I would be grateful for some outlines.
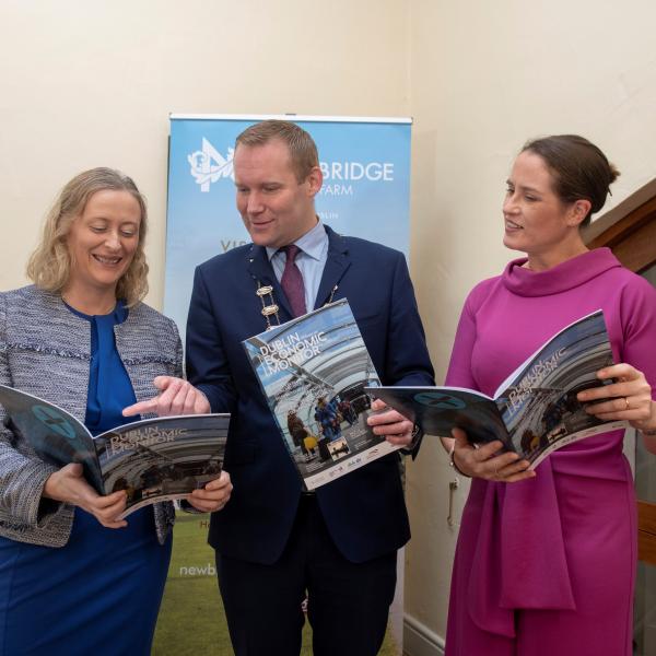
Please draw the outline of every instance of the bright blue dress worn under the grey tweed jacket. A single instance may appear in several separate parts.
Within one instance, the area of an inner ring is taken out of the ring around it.
[[[92,331],[86,427],[95,435],[133,421],[121,415],[136,398],[114,340],[128,311],[120,303],[104,316],[70,309]],[[127,528],[105,528],[75,508],[62,548],[0,537],[0,656],[150,654],[171,536],[159,543],[152,506],[127,522]]]

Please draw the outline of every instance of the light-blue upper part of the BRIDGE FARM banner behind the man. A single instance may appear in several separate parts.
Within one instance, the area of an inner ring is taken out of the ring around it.
[[[338,233],[408,255],[409,118],[171,116],[164,313],[184,332],[194,270],[250,242],[235,207],[236,137],[267,118],[293,120],[318,151],[317,214]]]

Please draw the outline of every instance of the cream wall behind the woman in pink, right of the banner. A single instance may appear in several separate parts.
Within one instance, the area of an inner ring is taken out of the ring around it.
[[[648,0],[410,1],[412,273],[438,380],[468,290],[515,255],[501,243],[501,202],[527,138],[597,142],[622,172],[613,203],[656,177],[654,24]],[[406,612],[443,636],[453,471],[424,446],[408,478]]]

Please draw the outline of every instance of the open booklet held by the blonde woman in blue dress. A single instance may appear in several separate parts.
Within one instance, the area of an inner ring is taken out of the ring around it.
[[[0,385],[10,427],[46,462],[80,462],[98,494],[127,493],[122,517],[150,503],[181,499],[221,473],[230,414],[157,417],[93,437],[61,408]]]

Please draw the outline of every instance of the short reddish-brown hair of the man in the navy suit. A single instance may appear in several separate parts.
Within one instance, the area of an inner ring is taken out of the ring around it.
[[[246,128],[236,139],[237,145],[265,145],[280,139],[290,151],[290,160],[296,179],[302,183],[309,172],[319,165],[317,144],[303,128],[289,120],[269,119]]]

